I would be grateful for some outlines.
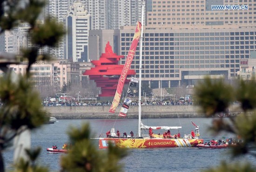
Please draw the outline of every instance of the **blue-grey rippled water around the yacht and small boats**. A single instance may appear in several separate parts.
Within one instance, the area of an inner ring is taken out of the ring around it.
[[[205,141],[219,139],[222,136],[231,137],[229,134],[220,134],[213,137],[207,128],[212,119],[206,118],[182,118],[182,119],[148,119],[143,124],[148,126],[182,126],[179,130],[181,135],[189,134],[195,127],[193,121],[199,125],[200,134]],[[130,133],[132,130],[137,132],[136,119],[118,119],[118,120],[59,120],[55,124],[47,124],[32,133],[32,146],[41,147],[39,163],[48,166],[50,171],[60,170],[59,159],[63,154],[47,153],[46,148],[56,145],[62,145],[68,141],[67,130],[69,126],[80,127],[82,123],[89,122],[94,135],[104,134],[115,125],[115,130]],[[155,131],[155,133],[163,131]],[[171,130],[171,134],[177,133],[177,130]],[[98,140],[94,140],[95,146]],[[103,150],[104,151],[104,150]],[[129,155],[121,160],[125,172],[196,172],[201,169],[217,166],[221,160],[230,159],[229,149],[204,150],[196,147],[176,147],[176,148],[147,148],[147,149],[129,149]],[[13,162],[13,152],[4,153],[6,168]],[[251,156],[243,157],[245,160],[254,162]],[[241,160],[241,158],[240,158]],[[229,160],[230,161],[230,160]]]

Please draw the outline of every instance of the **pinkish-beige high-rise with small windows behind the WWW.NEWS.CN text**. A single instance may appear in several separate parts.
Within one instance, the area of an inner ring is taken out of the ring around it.
[[[224,8],[219,10],[217,8]],[[229,9],[228,9],[229,8]],[[146,0],[146,25],[256,24],[255,0]]]

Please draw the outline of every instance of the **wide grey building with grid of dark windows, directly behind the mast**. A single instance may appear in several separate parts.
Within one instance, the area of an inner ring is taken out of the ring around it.
[[[142,78],[151,88],[194,85],[204,76],[234,79],[240,60],[256,51],[255,26],[216,28],[146,28]],[[120,54],[127,55],[133,31],[120,30]],[[139,51],[132,69],[138,77]],[[124,61],[121,62],[124,64]]]

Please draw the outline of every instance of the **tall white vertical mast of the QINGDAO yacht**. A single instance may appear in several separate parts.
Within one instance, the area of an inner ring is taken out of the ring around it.
[[[142,68],[142,39],[143,39],[143,25],[144,25],[144,10],[145,6],[142,5],[141,9],[141,39],[140,39],[140,69],[139,69],[139,120],[138,120],[138,136],[141,137],[141,68]]]

